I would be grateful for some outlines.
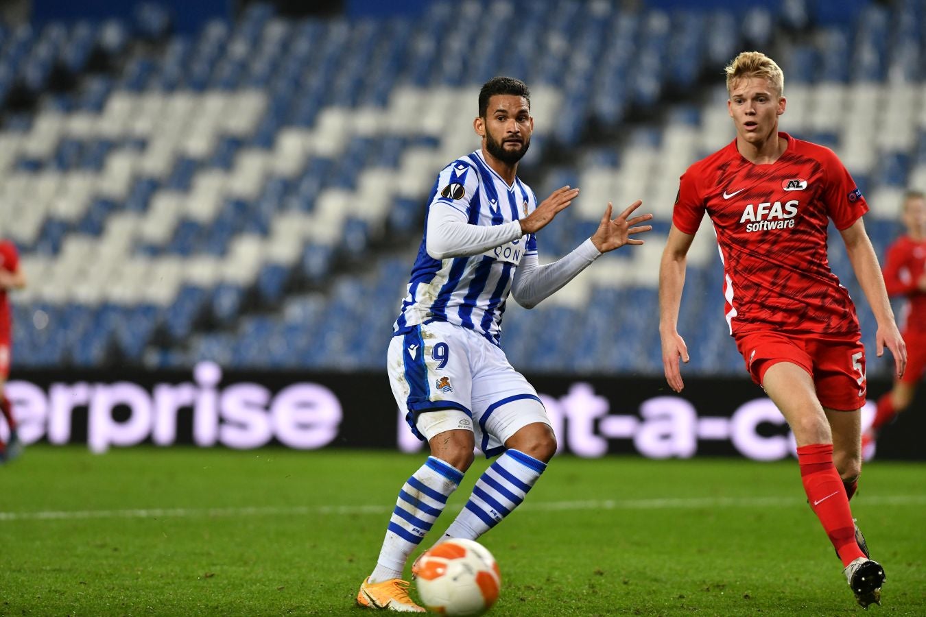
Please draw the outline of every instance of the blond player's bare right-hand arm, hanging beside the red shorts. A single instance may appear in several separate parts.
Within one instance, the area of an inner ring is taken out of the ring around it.
[[[865,293],[871,312],[878,322],[878,331],[875,333],[875,351],[880,358],[884,354],[885,347],[891,350],[894,355],[895,374],[900,378],[907,369],[907,344],[897,329],[894,311],[891,309],[891,302],[888,300],[887,290],[884,287],[881,266],[878,265],[878,257],[865,232],[865,224],[859,218],[840,233],[843,235],[845,252],[849,256],[852,269],[855,270],[858,284]]]

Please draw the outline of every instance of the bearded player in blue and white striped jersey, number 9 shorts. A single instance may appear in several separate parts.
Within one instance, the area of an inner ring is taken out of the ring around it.
[[[408,295],[387,352],[395,400],[431,456],[399,491],[382,550],[357,603],[423,612],[402,580],[409,555],[432,528],[473,462],[478,445],[498,455],[477,480],[444,537],[476,539],[524,500],[557,450],[536,390],[499,347],[508,294],[532,308],[602,253],[624,244],[651,215],[631,216],[634,202],[611,219],[611,204],[591,238],[551,264],[539,265],[535,233],[579,195],[569,186],[543,202],[517,176],[531,143],[527,86],[498,77],[479,94],[473,128],[481,147],[438,175]],[[551,327],[556,327],[551,325]]]

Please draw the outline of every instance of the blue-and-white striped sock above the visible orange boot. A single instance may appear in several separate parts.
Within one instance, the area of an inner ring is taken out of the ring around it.
[[[370,583],[402,578],[408,556],[431,530],[462,479],[463,472],[433,456],[408,478],[399,491]]]

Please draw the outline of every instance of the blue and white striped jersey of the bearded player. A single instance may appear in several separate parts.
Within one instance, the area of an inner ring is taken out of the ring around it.
[[[457,159],[437,177],[434,204],[449,204],[464,213],[470,225],[504,225],[528,216],[537,207],[533,191],[519,179],[508,186],[477,150]],[[427,229],[427,224],[425,224]],[[484,253],[434,259],[426,250],[427,230],[412,267],[402,313],[394,334],[431,321],[468,327],[499,344],[502,314],[521,257],[537,253],[533,234]]]

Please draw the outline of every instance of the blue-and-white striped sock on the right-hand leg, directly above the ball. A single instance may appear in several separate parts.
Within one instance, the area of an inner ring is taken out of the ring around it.
[[[519,450],[506,450],[476,481],[469,501],[444,537],[482,536],[518,507],[544,469],[546,463]]]

